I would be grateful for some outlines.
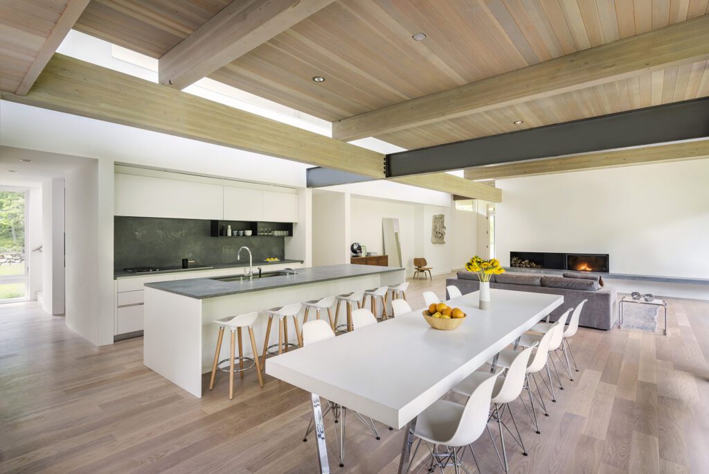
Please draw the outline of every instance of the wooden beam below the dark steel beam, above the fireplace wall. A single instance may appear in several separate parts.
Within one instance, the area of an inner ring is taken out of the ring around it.
[[[503,180],[505,178],[647,165],[659,162],[698,160],[701,158],[709,158],[709,140],[584,153],[560,158],[508,163],[506,165],[470,167],[464,170],[464,176],[467,180]]]

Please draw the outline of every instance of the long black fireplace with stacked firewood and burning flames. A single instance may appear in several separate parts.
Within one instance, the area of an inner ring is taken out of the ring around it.
[[[609,272],[607,253],[510,252],[510,267]]]

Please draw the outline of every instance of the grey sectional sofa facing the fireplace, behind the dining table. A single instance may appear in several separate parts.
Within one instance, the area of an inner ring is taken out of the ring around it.
[[[478,275],[471,272],[458,272],[456,278],[447,278],[446,286],[448,285],[457,287],[462,294],[480,289]],[[603,286],[603,280],[598,275],[564,273],[563,276],[556,276],[507,272],[493,275],[490,287],[520,292],[561,294],[564,297],[564,304],[554,309],[550,321],[556,321],[566,309],[576,307],[584,299],[588,299],[588,302],[581,312],[579,319],[581,326],[608,331],[617,321],[615,289]]]

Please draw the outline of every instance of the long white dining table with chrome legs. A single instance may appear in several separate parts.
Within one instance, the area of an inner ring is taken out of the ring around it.
[[[408,471],[416,417],[499,351],[564,303],[557,294],[491,290],[447,301],[467,317],[454,331],[437,331],[423,309],[289,351],[266,362],[266,373],[311,392],[320,472],[329,473],[320,397],[401,429],[399,472]]]

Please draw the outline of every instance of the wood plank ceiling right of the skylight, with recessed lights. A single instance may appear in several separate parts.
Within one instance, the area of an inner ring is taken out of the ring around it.
[[[340,0],[210,77],[336,121],[703,16],[708,3]],[[226,4],[92,0],[76,28],[160,57]],[[419,32],[427,37],[414,41]],[[707,95],[702,61],[377,138],[423,148]]]

